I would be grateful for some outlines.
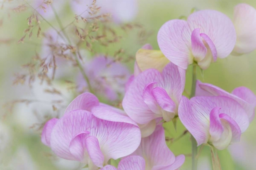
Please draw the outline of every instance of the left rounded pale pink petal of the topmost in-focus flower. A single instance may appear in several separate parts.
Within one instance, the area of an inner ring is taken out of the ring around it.
[[[162,53],[175,65],[187,69],[193,63],[189,56],[189,27],[186,21],[173,19],[159,29],[157,42]]]

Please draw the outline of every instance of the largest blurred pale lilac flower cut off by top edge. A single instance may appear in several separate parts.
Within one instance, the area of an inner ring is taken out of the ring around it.
[[[90,17],[86,11],[88,6],[93,3],[93,0],[72,0],[71,8],[76,15],[81,15],[84,18]],[[101,7],[96,15],[112,14],[114,22],[129,22],[132,21],[138,12],[137,0],[97,0],[97,7]]]

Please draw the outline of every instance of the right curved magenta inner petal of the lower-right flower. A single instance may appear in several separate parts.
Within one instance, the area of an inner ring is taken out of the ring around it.
[[[241,136],[241,129],[239,128],[237,122],[234,121],[234,119],[232,119],[230,116],[223,113],[219,115],[219,118],[222,118],[228,121],[232,131],[231,142],[239,142],[240,136]]]

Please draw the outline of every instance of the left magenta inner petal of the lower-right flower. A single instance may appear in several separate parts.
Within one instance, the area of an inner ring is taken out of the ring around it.
[[[221,124],[221,120],[219,118],[219,110],[221,108],[215,107],[212,109],[210,113],[210,135],[211,140],[217,141],[221,138],[223,133],[223,126]]]

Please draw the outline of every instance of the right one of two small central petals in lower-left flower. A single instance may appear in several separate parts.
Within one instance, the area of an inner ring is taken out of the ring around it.
[[[102,168],[104,163],[104,155],[101,152],[99,141],[95,136],[89,136],[85,139],[85,146],[91,161]]]

